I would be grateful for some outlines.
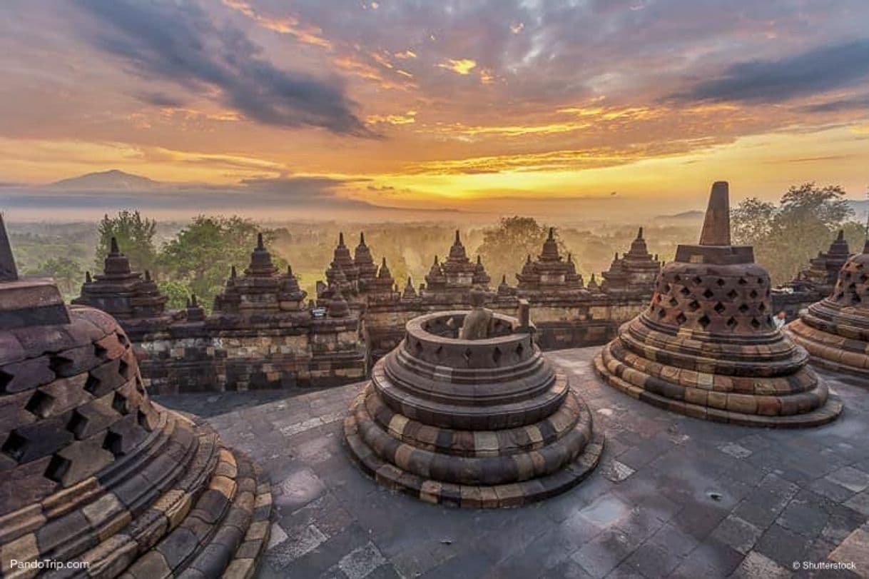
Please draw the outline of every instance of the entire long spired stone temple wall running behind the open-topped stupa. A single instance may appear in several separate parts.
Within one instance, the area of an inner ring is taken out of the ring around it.
[[[426,283],[415,289],[408,279],[400,291],[386,261],[375,264],[364,236],[355,255],[341,236],[327,283],[319,284],[315,303],[306,303],[292,270],[278,272],[260,239],[247,269],[232,269],[214,312],[205,316],[196,296],[186,309],[167,311],[149,272],[131,270],[113,243],[103,273],[88,274],[74,303],[116,317],[154,393],[323,387],[363,379],[401,342],[409,320],[469,309],[475,291],[488,292],[488,306],[507,316],[517,316],[527,300],[542,349],[607,343],[644,307],[659,269],[640,230],[630,251],[615,256],[603,284],[592,276],[586,285],[550,232],[541,255],[528,256],[517,274],[518,285],[505,278],[494,289],[481,259],[468,258],[456,232]]]

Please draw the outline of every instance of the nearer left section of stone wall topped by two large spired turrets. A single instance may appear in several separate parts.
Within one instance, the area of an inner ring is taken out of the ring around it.
[[[279,273],[262,239],[242,276],[232,270],[215,311],[194,296],[166,312],[156,283],[131,271],[113,244],[103,274],[87,276],[75,303],[117,316],[155,394],[324,387],[362,380],[368,356],[361,320],[342,296],[308,307],[292,271]]]

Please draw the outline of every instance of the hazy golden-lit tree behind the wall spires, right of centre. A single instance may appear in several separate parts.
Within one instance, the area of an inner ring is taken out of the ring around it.
[[[548,229],[533,217],[501,217],[501,223],[494,229],[483,231],[483,242],[477,252],[486,266],[493,283],[507,275],[511,281],[514,274],[522,270],[527,256],[534,258],[541,252],[546,241]],[[559,250],[564,253],[564,245],[557,236]],[[473,259],[473,256],[472,256]]]

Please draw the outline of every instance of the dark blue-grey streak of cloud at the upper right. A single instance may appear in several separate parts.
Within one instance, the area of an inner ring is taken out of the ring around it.
[[[683,101],[780,103],[869,78],[869,38],[807,50],[779,60],[728,67],[721,77],[675,95]]]

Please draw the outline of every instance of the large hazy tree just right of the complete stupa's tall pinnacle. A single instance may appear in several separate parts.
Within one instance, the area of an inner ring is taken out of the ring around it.
[[[778,206],[755,198],[740,203],[731,212],[733,242],[753,245],[773,284],[786,283],[829,247],[837,230],[853,229],[853,215],[839,185],[803,183],[788,189]]]

